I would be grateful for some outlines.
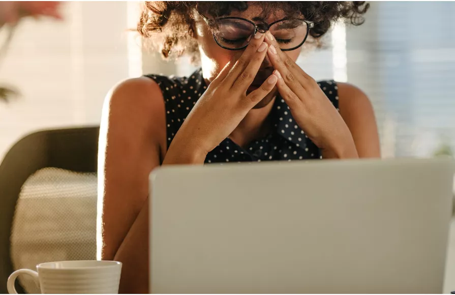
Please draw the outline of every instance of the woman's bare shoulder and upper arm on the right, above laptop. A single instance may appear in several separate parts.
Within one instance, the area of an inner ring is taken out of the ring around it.
[[[337,85],[340,114],[351,131],[359,157],[380,157],[378,128],[370,99],[357,86]]]

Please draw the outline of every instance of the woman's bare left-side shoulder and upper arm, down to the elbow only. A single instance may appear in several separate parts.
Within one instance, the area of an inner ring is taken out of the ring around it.
[[[103,106],[98,152],[104,259],[114,259],[141,211],[163,142],[165,110],[157,83],[140,77],[113,86]]]

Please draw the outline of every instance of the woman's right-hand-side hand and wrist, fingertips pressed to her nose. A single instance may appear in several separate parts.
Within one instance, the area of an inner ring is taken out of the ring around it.
[[[278,78],[278,91],[300,129],[328,154],[356,158],[348,126],[318,83],[280,50],[270,32],[266,33],[265,41],[269,44],[268,58]]]

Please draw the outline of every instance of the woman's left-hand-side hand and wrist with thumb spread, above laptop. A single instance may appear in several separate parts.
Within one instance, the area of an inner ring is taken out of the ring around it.
[[[210,83],[175,135],[165,163],[203,163],[207,153],[275,87],[278,78],[270,75],[247,95],[267,54],[267,43],[263,41],[264,35],[256,34],[238,61],[228,63]]]

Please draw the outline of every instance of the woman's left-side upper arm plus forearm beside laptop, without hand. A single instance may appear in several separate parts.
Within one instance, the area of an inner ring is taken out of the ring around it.
[[[99,141],[98,226],[101,258],[123,262],[120,292],[148,293],[148,278],[141,277],[148,275],[148,175],[160,165],[165,130],[164,101],[153,80],[131,79],[108,94]]]

